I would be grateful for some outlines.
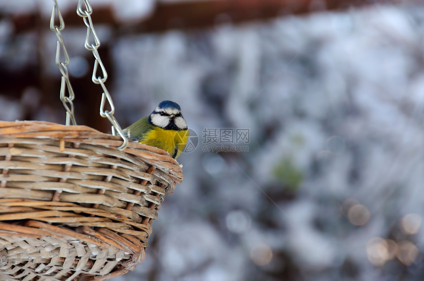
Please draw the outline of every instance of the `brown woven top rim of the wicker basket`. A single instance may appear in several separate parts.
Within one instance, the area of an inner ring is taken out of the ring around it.
[[[122,144],[119,136],[100,132],[86,125],[62,125],[45,121],[0,121],[0,137],[51,139],[57,142],[75,142],[106,147],[119,152]],[[59,145],[59,144],[58,144]],[[164,170],[176,184],[182,181],[182,165],[168,152],[130,141],[122,151],[143,160],[145,163]]]

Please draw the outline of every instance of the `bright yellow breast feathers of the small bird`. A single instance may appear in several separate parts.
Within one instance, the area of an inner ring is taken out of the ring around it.
[[[188,134],[188,130],[176,131],[155,127],[145,134],[140,143],[163,149],[173,158],[177,158],[187,144]]]

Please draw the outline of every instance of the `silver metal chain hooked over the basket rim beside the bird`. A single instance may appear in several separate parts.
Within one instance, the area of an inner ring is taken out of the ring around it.
[[[83,9],[83,3],[85,5],[85,9]],[[115,112],[115,106],[113,105],[112,97],[110,96],[105,86],[105,82],[107,80],[107,72],[105,65],[103,65],[102,59],[100,58],[99,52],[97,51],[100,46],[100,39],[97,36],[96,31],[94,30],[93,21],[91,20],[92,12],[93,9],[91,8],[91,5],[88,0],[78,0],[78,7],[76,8],[76,13],[78,14],[78,16],[82,17],[82,19],[84,20],[84,24],[87,27],[87,35],[85,36],[84,47],[87,50],[92,51],[95,59],[91,80],[94,84],[100,84],[103,90],[102,101],[100,103],[100,116],[102,116],[103,118],[107,118],[110,124],[112,124],[113,134],[114,131],[117,131],[118,134],[121,136],[124,142],[121,146],[118,147],[118,149],[124,150],[128,146],[128,140],[124,136],[124,133],[122,132],[122,128],[119,125],[118,121],[116,121],[115,117],[113,117],[113,113]],[[90,37],[93,37],[94,43],[90,43]],[[101,76],[97,76],[97,69],[99,68],[99,65],[102,69],[103,78]],[[110,107],[110,110],[105,110],[106,101]]]

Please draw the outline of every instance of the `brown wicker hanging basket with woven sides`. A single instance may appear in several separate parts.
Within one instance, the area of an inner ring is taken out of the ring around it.
[[[141,263],[181,183],[163,150],[87,126],[0,121],[0,280],[106,280]]]

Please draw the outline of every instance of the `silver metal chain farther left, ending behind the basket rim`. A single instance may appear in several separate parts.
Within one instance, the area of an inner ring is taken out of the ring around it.
[[[62,73],[62,81],[61,81],[61,87],[60,87],[60,100],[63,102],[63,106],[66,109],[66,125],[70,125],[71,121],[72,121],[72,125],[76,125],[75,116],[73,113],[73,103],[72,103],[72,100],[74,99],[75,95],[73,93],[71,81],[69,80],[68,67],[67,67],[67,65],[70,62],[70,59],[69,59],[68,52],[66,51],[65,44],[63,43],[62,33],[61,33],[61,31],[65,29],[65,23],[63,21],[62,14],[60,13],[57,0],[53,0],[53,2],[54,2],[54,6],[52,10],[52,15],[50,18],[50,29],[56,32],[56,36],[58,38],[58,41],[56,44],[56,64],[57,66],[59,66],[59,70]],[[56,11],[59,18],[60,26],[57,26],[54,24]],[[61,47],[65,57],[64,62],[60,61]],[[66,95],[67,88],[69,92],[68,96]]]

